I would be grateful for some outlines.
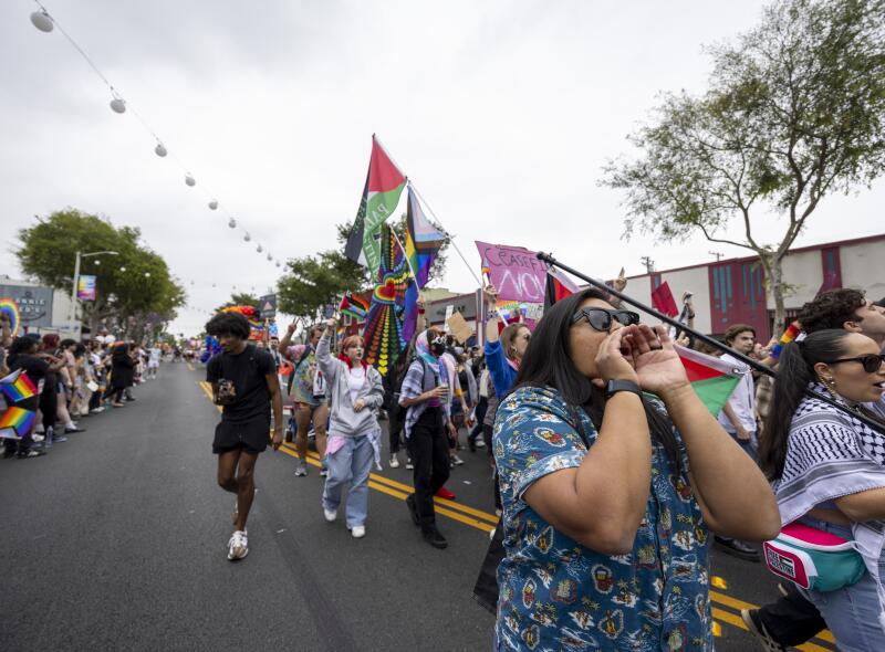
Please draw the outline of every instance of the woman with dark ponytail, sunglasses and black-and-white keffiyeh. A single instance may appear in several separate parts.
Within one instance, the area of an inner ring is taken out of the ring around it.
[[[779,376],[759,463],[773,483],[781,518],[854,540],[867,569],[856,583],[833,591],[800,591],[818,607],[840,650],[881,650],[885,422],[864,403],[885,393],[885,356],[860,333],[818,330],[784,347]],[[846,410],[806,396],[805,388]]]

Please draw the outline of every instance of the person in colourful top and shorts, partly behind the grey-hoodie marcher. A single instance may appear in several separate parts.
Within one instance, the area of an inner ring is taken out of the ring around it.
[[[316,441],[316,452],[322,460],[321,476],[327,474],[325,460],[326,424],[329,422],[329,400],[326,398],[325,378],[316,365],[316,345],[323,334],[322,326],[312,326],[309,330],[308,346],[290,346],[295,333],[295,324],[290,324],[282,340],[280,353],[292,362],[292,410],[295,413],[298,432],[295,433],[295,451],[298,462],[295,475],[308,475],[308,432],[311,423]]]

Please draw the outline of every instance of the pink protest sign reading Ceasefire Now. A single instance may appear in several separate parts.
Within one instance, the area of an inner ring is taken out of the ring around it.
[[[498,298],[524,303],[544,303],[548,264],[535,252],[522,246],[489,244],[477,241],[489,278],[498,290]]]

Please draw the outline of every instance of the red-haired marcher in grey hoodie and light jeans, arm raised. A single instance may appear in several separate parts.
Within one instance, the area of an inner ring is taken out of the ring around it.
[[[329,319],[316,345],[316,361],[326,379],[332,406],[326,443],[329,475],[323,488],[323,515],[329,523],[337,517],[342,486],[350,482],[345,522],[351,535],[366,534],[368,475],[372,462],[381,462],[381,425],[376,416],[384,401],[381,374],[363,361],[363,338],[351,335],[342,354],[332,357],[331,341],[335,319]]]

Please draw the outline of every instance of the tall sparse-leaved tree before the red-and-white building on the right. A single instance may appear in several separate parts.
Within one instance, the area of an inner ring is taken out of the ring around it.
[[[829,194],[870,183],[885,166],[885,3],[780,0],[735,43],[709,49],[706,93],[667,94],[610,162],[603,185],[625,192],[626,235],[695,233],[749,249],[764,267],[783,328],[782,261]],[[762,222],[780,240],[758,235]],[[722,231],[732,221],[742,235]]]

